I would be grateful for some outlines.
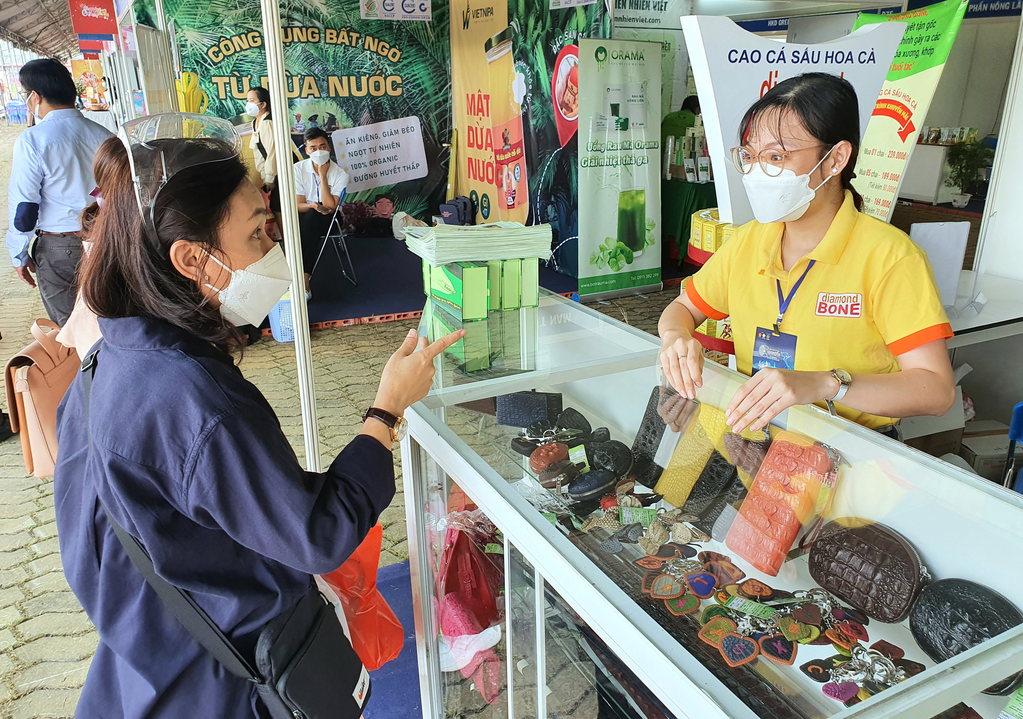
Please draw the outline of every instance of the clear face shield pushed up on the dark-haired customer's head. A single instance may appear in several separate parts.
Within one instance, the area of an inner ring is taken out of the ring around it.
[[[128,149],[138,211],[155,237],[153,208],[160,191],[182,170],[233,160],[241,137],[226,120],[195,113],[149,115],[124,123],[118,137]]]

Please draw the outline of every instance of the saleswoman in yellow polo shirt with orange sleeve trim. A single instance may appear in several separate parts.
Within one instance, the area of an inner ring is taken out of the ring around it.
[[[730,316],[737,365],[752,375],[725,411],[735,432],[832,401],[882,431],[898,417],[944,414],[954,399],[951,327],[923,251],[859,212],[852,85],[821,73],[786,80],[740,128],[732,158],[756,219],[661,315],[671,384],[696,397],[704,358],[694,329]]]

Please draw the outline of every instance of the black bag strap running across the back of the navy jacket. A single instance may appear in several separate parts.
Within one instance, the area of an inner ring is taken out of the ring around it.
[[[89,393],[92,390],[92,377],[96,372],[96,356],[98,354],[99,348],[97,347],[82,362],[82,390],[85,395],[85,424],[89,433],[90,456],[92,455],[92,428],[89,425]],[[98,498],[98,492],[96,496]],[[135,569],[145,578],[145,581],[149,583],[152,590],[157,592],[167,611],[174,615],[184,628],[188,630],[188,633],[195,638],[195,641],[205,646],[213,655],[214,659],[224,665],[227,671],[242,679],[261,683],[262,679],[260,676],[253,671],[252,666],[246,661],[244,657],[224,636],[224,633],[220,631],[220,628],[214,621],[210,619],[210,615],[204,612],[186,591],[174,586],[157,574],[152,566],[152,559],[149,558],[149,554],[145,551],[142,543],[128,534],[121,525],[114,521],[102,498],[99,498],[99,503],[102,505],[103,511],[106,512],[106,521],[114,528],[114,533],[118,536],[121,546],[128,553],[128,558],[135,565]]]

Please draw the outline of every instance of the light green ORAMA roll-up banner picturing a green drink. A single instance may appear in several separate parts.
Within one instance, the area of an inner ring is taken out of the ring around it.
[[[661,45],[579,41],[579,295],[661,289]]]

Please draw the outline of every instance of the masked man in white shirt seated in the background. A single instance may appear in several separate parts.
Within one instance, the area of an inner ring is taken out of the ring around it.
[[[309,275],[323,246],[323,237],[330,229],[341,194],[348,187],[348,173],[330,160],[330,138],[323,130],[306,130],[303,137],[309,159],[293,167],[295,193],[302,214],[302,263],[308,290]],[[338,221],[342,221],[340,215]]]

